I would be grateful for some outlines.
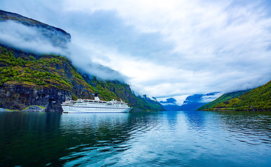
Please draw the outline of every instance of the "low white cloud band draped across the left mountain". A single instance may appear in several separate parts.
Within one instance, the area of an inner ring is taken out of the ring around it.
[[[37,54],[61,54],[71,59],[75,67],[80,68],[87,74],[94,77],[107,80],[124,81],[126,77],[117,71],[104,67],[95,63],[91,59],[91,54],[95,54],[91,49],[85,50],[82,47],[71,42],[64,47],[63,45],[55,45],[52,37],[43,34],[41,30],[33,26],[24,26],[23,24],[6,21],[0,22],[0,42],[15,48],[33,51]],[[57,31],[55,32],[57,35]],[[61,37],[61,35],[59,35]],[[56,37],[57,38],[57,37]]]

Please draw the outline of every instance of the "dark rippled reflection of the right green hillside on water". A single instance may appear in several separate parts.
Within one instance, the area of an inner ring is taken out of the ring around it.
[[[230,117],[229,117],[230,116]],[[219,119],[230,136],[230,141],[240,141],[249,145],[271,143],[271,115],[261,112],[221,113]],[[253,136],[253,137],[251,137]]]

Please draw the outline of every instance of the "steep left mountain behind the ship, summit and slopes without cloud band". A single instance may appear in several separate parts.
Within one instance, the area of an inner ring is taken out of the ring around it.
[[[65,48],[71,40],[71,35],[64,30],[0,10],[0,22],[10,20],[35,27],[38,35],[55,47]],[[122,99],[134,111],[165,110],[156,100],[134,95],[128,84],[96,79],[74,67],[64,56],[37,54],[0,41],[1,110],[62,111],[61,103],[65,100],[91,99],[93,93],[98,93],[101,100]]]

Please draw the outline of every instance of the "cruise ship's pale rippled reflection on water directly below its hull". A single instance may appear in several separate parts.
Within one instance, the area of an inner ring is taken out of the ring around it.
[[[115,152],[129,149],[129,113],[64,114],[61,129],[70,154],[59,160],[65,166],[97,164]]]

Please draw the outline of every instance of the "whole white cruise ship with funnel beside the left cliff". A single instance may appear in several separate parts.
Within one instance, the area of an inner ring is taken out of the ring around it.
[[[125,102],[102,101],[95,93],[94,100],[69,100],[61,104],[63,113],[127,113],[132,107]]]

